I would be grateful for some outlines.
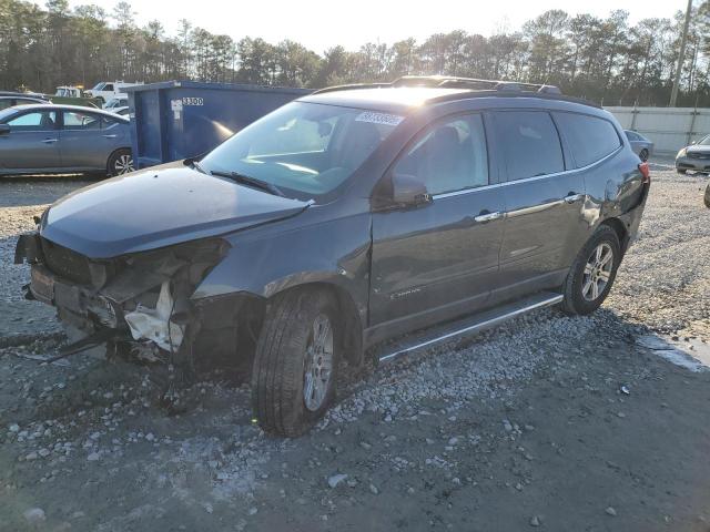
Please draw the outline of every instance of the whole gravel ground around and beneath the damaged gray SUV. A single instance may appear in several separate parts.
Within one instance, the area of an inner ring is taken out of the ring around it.
[[[36,360],[55,325],[14,296],[27,267],[9,260],[53,187],[22,184],[22,206],[0,206],[0,341],[37,339],[0,348],[0,531],[707,532],[710,371],[666,358],[707,356],[710,211],[700,177],[653,170],[602,309],[534,313],[344,381],[297,440],[252,423],[229,368],[169,416],[145,369]]]

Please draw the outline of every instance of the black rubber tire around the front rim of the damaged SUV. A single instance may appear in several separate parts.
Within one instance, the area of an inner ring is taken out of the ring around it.
[[[314,408],[306,406],[306,359],[310,346],[315,344],[316,320],[323,316],[332,329],[332,364],[327,383],[321,387],[325,389],[323,399]],[[342,345],[337,316],[336,304],[325,290],[290,290],[268,304],[252,368],[252,408],[266,432],[301,436],[335,399]]]

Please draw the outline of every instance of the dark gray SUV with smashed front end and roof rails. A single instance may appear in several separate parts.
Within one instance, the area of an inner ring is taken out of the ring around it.
[[[297,436],[334,401],[343,360],[548,305],[597,309],[649,186],[596,104],[404,78],[318,91],[200,160],[75,192],[16,260],[32,264],[28,297],[84,336],[64,354],[253,357],[255,418]]]

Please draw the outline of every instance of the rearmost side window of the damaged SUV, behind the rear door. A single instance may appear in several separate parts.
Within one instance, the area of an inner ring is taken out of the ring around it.
[[[555,120],[578,168],[596,163],[621,145],[616,127],[607,120],[577,113],[555,113]]]

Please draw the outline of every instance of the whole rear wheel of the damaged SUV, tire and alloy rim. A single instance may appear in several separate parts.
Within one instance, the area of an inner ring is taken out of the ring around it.
[[[565,282],[562,310],[586,315],[604,303],[621,263],[621,246],[616,232],[600,226],[579,252]]]

